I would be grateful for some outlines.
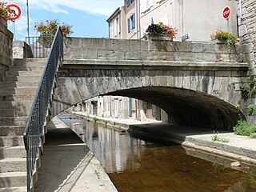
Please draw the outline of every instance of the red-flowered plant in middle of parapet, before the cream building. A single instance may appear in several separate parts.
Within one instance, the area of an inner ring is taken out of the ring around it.
[[[146,29],[146,35],[151,37],[167,37],[170,40],[173,40],[173,38],[176,38],[177,29],[172,26],[166,26],[162,22],[159,22],[158,24],[151,24]]]

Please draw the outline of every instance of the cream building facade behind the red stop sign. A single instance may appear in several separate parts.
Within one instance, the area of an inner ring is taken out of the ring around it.
[[[236,0],[140,0],[141,37],[150,23],[163,22],[178,29],[176,41],[189,34],[190,41],[210,41],[216,30],[237,34]],[[224,19],[224,7],[230,7],[230,18]]]

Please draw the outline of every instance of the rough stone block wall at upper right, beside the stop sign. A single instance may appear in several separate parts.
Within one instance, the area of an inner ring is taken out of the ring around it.
[[[256,74],[256,0],[242,0],[241,2],[242,13],[240,12],[238,1],[239,38],[242,45],[246,45],[247,47],[247,49],[243,50],[246,55],[246,61],[250,63],[251,70],[254,70],[254,74]]]

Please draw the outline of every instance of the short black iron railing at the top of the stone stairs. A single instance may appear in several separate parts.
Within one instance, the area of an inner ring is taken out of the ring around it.
[[[47,58],[50,53],[53,36],[31,36],[26,37],[26,45],[30,48],[26,49],[26,58]]]

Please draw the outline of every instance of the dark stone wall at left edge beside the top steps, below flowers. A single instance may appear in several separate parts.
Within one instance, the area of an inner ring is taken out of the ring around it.
[[[12,46],[14,35],[5,25],[0,23],[0,76],[5,74],[10,66],[12,58]]]

